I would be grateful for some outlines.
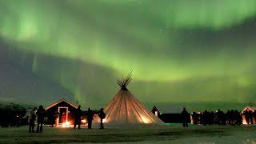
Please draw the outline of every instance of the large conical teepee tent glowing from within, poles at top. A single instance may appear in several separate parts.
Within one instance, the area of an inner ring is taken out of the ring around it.
[[[126,88],[131,81],[131,73],[122,81],[118,80],[121,89],[104,109],[106,118],[105,126],[132,126],[132,125],[165,125],[150,110],[146,109],[137,98]],[[99,122],[98,118],[94,122]]]

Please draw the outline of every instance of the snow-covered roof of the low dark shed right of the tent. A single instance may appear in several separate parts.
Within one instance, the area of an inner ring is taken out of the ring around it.
[[[161,114],[182,113],[183,106],[154,106]]]

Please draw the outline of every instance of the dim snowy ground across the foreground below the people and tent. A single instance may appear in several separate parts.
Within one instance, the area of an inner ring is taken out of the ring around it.
[[[43,127],[42,134],[28,126],[0,128],[0,143],[254,143],[256,126],[166,126],[139,129],[74,130]]]

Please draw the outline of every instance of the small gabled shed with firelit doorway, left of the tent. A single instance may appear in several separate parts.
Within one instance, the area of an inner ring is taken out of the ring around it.
[[[46,107],[48,125],[65,126],[74,124],[74,116],[78,106],[75,106],[66,99],[61,99]]]

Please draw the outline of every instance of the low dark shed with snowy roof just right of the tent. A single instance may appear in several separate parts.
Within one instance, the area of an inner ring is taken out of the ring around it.
[[[153,106],[152,112],[166,123],[182,123],[182,106]]]

